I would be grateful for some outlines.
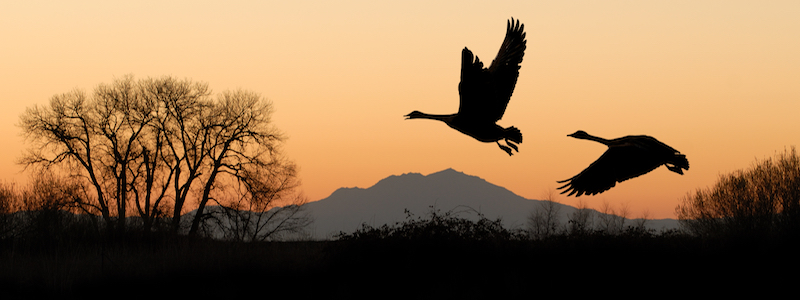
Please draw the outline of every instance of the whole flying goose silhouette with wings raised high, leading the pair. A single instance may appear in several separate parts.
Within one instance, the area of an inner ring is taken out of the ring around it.
[[[506,37],[497,57],[489,68],[464,47],[461,51],[461,82],[458,92],[461,98],[458,113],[432,115],[413,111],[406,119],[431,119],[445,122],[448,126],[475,138],[478,141],[496,142],[500,149],[512,155],[511,148],[519,152],[522,132],[516,127],[503,128],[497,125],[508,106],[514,86],[519,77],[519,64],[525,54],[525,26],[511,18],[506,26]],[[507,146],[500,144],[505,140]]]

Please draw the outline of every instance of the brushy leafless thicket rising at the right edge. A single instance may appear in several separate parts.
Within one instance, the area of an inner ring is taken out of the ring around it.
[[[800,156],[792,147],[687,195],[676,208],[699,236],[763,236],[800,229]]]

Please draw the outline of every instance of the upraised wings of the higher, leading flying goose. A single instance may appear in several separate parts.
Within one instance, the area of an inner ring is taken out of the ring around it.
[[[502,117],[519,77],[525,54],[525,26],[513,18],[506,26],[506,37],[489,68],[467,48],[461,51],[461,96],[459,116],[497,122]]]

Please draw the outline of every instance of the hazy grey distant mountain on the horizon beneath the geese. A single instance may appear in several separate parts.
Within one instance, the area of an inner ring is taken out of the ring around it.
[[[402,222],[406,210],[414,216],[426,217],[431,207],[441,212],[461,212],[458,216],[474,219],[477,211],[492,220],[500,218],[506,228],[524,228],[528,216],[542,202],[525,199],[479,177],[447,169],[427,176],[392,175],[366,189],[340,188],[305,207],[314,219],[309,228],[311,235],[324,239],[340,231],[353,232],[362,223],[377,227]],[[568,216],[577,209],[557,205],[560,223],[566,224]],[[474,211],[470,213],[470,209]],[[657,230],[678,227],[673,219],[648,220],[646,224]]]

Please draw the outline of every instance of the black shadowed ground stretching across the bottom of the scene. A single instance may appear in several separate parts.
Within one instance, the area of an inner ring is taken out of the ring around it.
[[[687,296],[794,284],[784,274],[797,273],[798,254],[792,238],[684,235],[252,244],[160,236],[0,246],[2,299]]]

